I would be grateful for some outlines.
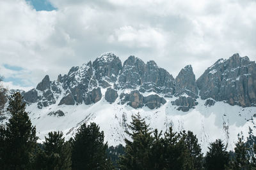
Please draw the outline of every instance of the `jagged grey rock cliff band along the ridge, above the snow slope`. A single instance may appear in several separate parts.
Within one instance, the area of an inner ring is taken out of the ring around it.
[[[256,66],[248,57],[236,53],[215,62],[198,80],[191,65],[182,68],[174,79],[153,60],[145,63],[130,56],[122,65],[115,54],[104,53],[93,62],[72,67],[68,74],[59,75],[58,80],[50,81],[45,76],[36,89],[23,95],[26,103],[37,103],[38,108],[51,104],[93,104],[102,97],[114,103],[118,96],[120,104],[132,108],[159,108],[166,103],[166,97],[177,97],[171,103],[182,111],[195,108],[198,97],[208,99],[205,106],[225,101],[249,107],[256,106]]]

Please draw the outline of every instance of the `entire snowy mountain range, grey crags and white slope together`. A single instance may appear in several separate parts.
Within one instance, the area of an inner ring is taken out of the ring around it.
[[[104,53],[57,80],[45,76],[22,95],[40,140],[49,131],[63,131],[68,139],[79,125],[96,122],[109,145],[118,145],[138,112],[153,129],[172,125],[195,132],[203,152],[217,138],[232,149],[237,134],[245,138],[249,127],[256,131],[256,65],[237,53],[215,62],[198,80],[190,65],[173,78],[153,60],[130,56],[122,64]]]

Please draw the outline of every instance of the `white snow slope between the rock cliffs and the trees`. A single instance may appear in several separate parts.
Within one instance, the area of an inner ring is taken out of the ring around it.
[[[101,89],[102,94],[106,89]],[[216,102],[214,106],[205,106],[205,101],[198,99],[198,105],[188,112],[178,111],[170,102],[175,97],[169,98],[161,108],[150,110],[146,106],[134,109],[131,106],[120,105],[120,99],[109,104],[102,96],[102,99],[90,105],[67,106],[53,104],[42,110],[36,104],[28,106],[29,117],[36,125],[37,135],[40,141],[50,131],[63,131],[65,138],[74,135],[79,125],[84,122],[95,122],[104,131],[105,140],[109,145],[124,144],[125,129],[131,122],[131,115],[140,113],[152,129],[166,131],[170,125],[174,131],[193,131],[202,145],[203,152],[207,151],[207,146],[215,139],[223,139],[228,143],[228,149],[234,148],[237,141],[237,134],[247,136],[248,127],[255,127],[256,107],[241,108],[240,106],[230,106],[227,103]],[[64,117],[48,115],[51,110],[61,110]],[[255,132],[255,128],[253,128]]]

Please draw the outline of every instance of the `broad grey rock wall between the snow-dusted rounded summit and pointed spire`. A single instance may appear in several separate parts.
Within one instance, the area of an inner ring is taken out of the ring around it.
[[[140,87],[140,92],[163,94],[173,94],[175,87],[175,80],[168,71],[159,68],[152,60],[145,64],[134,56],[125,60],[118,83],[121,89]]]

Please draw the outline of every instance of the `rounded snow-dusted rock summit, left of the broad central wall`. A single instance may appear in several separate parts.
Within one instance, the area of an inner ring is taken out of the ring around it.
[[[122,69],[121,60],[113,53],[104,53],[92,64],[95,77],[102,87],[109,87],[109,82],[115,82],[119,71]]]

